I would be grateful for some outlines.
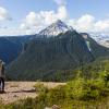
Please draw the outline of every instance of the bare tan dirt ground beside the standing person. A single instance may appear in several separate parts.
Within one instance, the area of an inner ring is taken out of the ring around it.
[[[36,82],[7,82],[5,94],[0,94],[0,101],[10,104],[27,97],[35,98],[37,96],[35,84]],[[58,85],[64,85],[64,83],[44,83],[44,85],[53,88]]]

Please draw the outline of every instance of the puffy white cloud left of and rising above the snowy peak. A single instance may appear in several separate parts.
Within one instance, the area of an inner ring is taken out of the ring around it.
[[[57,20],[65,21],[68,19],[68,12],[64,5],[60,5],[55,11],[40,11],[39,13],[29,12],[26,17],[23,20],[20,28],[22,29],[32,29],[32,28],[41,28],[46,27],[49,24],[56,22]]]

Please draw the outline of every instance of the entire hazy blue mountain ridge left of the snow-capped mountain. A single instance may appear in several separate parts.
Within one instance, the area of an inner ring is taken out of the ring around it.
[[[25,43],[31,40],[32,37],[34,36],[0,37],[0,59],[2,59],[5,64],[11,63],[23,52]]]

